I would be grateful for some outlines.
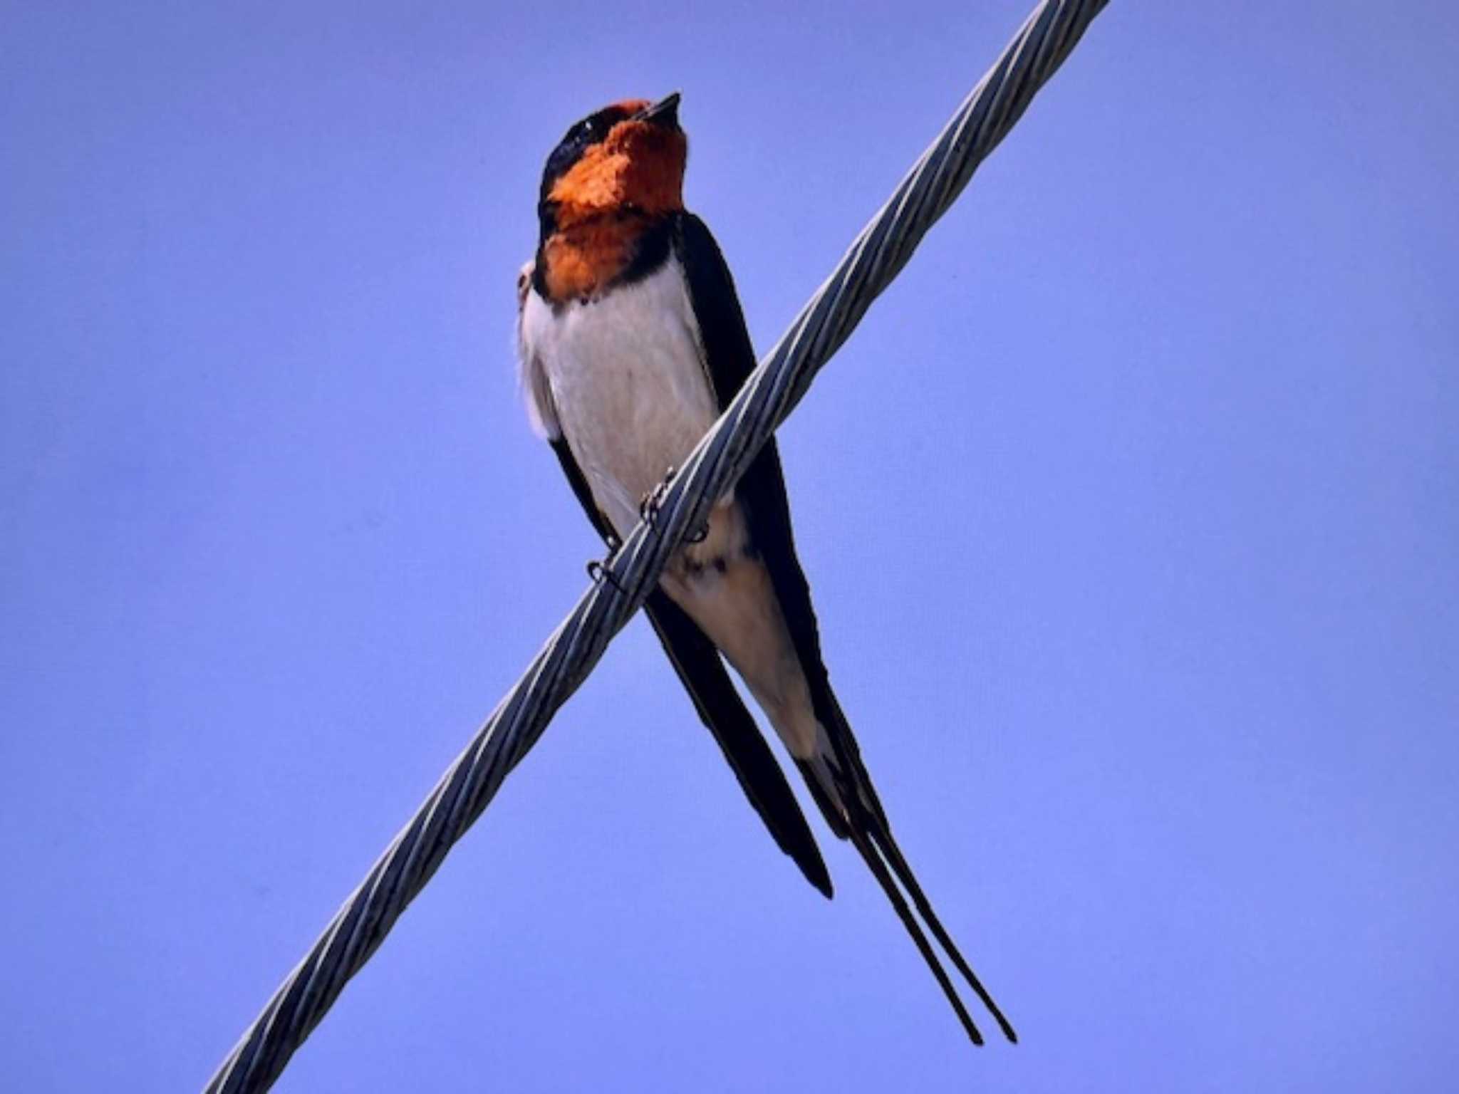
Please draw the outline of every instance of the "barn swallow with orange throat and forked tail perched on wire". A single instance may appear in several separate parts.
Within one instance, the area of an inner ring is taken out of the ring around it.
[[[528,417],[610,547],[754,369],[730,268],[684,209],[687,150],[677,93],[619,102],[576,123],[547,158],[537,254],[518,277]],[[832,691],[773,438],[715,503],[708,527],[671,556],[645,611],[750,804],[805,878],[832,896],[816,839],[725,661],[830,830],[867,862],[967,1036],[982,1043],[928,931],[1017,1040],[891,837]]]

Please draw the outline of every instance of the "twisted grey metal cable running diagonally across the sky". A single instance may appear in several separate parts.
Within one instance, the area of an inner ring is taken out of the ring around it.
[[[887,203],[696,445],[658,506],[578,601],[465,751],[391,840],[365,881],[244,1033],[206,1094],[273,1085],[346,982],[369,960],[446,852],[587,678],[608,640],[643,602],[674,547],[721,497],[795,408],[811,379],[897,276],[1058,70],[1107,0],[1045,0],[959,106]]]

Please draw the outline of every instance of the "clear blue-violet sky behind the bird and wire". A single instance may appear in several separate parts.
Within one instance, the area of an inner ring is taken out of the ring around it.
[[[1026,12],[4,9],[0,1085],[200,1087],[585,588],[512,359],[568,124],[683,89],[766,349]],[[1023,1044],[635,621],[279,1090],[1452,1088],[1456,57],[1116,1],[781,433]]]

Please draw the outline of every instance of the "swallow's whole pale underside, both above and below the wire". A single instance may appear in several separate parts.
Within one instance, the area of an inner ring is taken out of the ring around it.
[[[592,303],[559,312],[537,293],[522,305],[525,382],[537,373],[550,404],[535,406],[544,433],[566,438],[592,499],[619,535],[670,467],[705,435],[719,410],[703,365],[699,328],[678,261]],[[662,586],[750,686],[798,757],[814,754],[816,716],[805,675],[770,575],[747,551],[744,513],[730,493],[706,537],[670,560]]]

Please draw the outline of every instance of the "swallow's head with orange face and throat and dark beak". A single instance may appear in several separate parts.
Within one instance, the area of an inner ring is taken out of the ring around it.
[[[547,158],[537,204],[543,238],[605,213],[654,217],[683,209],[687,156],[678,92],[589,114]]]

